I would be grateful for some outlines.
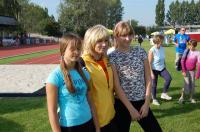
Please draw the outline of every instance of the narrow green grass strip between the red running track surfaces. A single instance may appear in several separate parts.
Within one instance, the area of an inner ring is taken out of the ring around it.
[[[9,64],[15,61],[27,60],[34,57],[50,55],[50,54],[54,54],[58,52],[59,52],[58,49],[54,49],[54,50],[41,51],[41,52],[36,52],[36,53],[31,53],[31,54],[18,55],[14,57],[8,57],[8,58],[0,59],[0,64]]]

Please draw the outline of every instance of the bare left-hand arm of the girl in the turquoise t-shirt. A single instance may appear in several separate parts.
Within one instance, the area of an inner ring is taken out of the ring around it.
[[[58,96],[57,87],[55,85],[47,83],[46,94],[47,94],[47,109],[52,131],[60,132],[61,130],[57,114],[57,96]]]

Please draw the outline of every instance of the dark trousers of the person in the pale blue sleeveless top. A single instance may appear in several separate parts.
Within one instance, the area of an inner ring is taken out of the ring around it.
[[[165,83],[163,86],[163,93],[166,93],[167,90],[169,89],[172,77],[166,68],[164,68],[162,71],[153,70],[153,74],[155,78],[153,79],[153,84],[152,84],[152,96],[155,99],[156,93],[157,93],[158,75],[160,75],[165,80]]]

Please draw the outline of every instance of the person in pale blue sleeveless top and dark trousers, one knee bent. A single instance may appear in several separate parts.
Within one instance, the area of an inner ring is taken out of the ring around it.
[[[162,47],[164,36],[162,35],[155,35],[153,37],[154,46],[151,47],[149,50],[149,63],[151,70],[151,78],[152,78],[152,98],[154,105],[160,105],[159,101],[156,98],[157,93],[157,82],[158,82],[158,75],[160,75],[164,80],[164,86],[163,86],[163,92],[161,94],[161,98],[165,100],[171,100],[172,97],[170,97],[167,94],[167,91],[169,89],[170,83],[171,83],[171,75],[169,74],[168,70],[166,69],[165,64],[165,50]]]

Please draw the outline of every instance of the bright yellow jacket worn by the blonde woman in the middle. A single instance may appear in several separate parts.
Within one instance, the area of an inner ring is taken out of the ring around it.
[[[95,104],[100,127],[110,123],[114,118],[113,72],[108,58],[103,58],[108,72],[108,80],[104,69],[89,55],[84,55],[86,68],[90,73],[90,90]]]

